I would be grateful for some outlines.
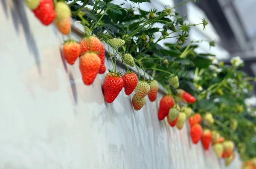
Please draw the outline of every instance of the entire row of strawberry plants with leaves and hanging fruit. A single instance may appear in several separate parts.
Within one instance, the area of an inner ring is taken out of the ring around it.
[[[139,5],[150,3],[150,0],[130,1]],[[246,99],[251,96],[251,81],[255,78],[239,70],[244,65],[239,57],[225,65],[212,54],[195,52],[201,42],[215,46],[214,41],[205,39],[188,42],[192,27],[207,28],[205,18],[201,23],[190,24],[187,16],[176,12],[177,6],[144,11],[140,6],[125,8],[122,1],[115,4],[113,0],[26,0],[26,4],[41,23],[54,22],[62,34],[71,33],[70,17],[84,26],[79,44],[71,36],[64,43],[64,58],[73,65],[80,55],[79,67],[85,85],[91,85],[97,74],[106,73],[103,85],[106,102],[112,103],[124,88],[126,95],[134,92],[132,104],[134,110],[140,110],[146,104],[146,95],[150,101],[156,100],[161,85],[166,95],[158,103],[159,120],[167,116],[170,126],[182,130],[188,119],[194,144],[201,139],[207,150],[211,142],[216,155],[219,158],[224,155],[226,165],[235,157],[236,146],[240,157],[247,161],[244,165],[254,165],[256,116]],[[156,27],[157,23],[162,26]],[[169,43],[169,39],[176,39],[176,43]],[[108,72],[105,72],[103,43],[107,44],[106,50],[113,49],[109,53],[113,70]],[[116,70],[117,55],[125,65],[125,72]],[[139,70],[143,70],[143,76]]]

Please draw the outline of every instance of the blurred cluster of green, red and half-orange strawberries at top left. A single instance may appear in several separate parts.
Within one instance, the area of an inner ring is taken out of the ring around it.
[[[25,0],[27,6],[44,25],[54,22],[61,34],[70,33],[70,7],[64,2],[53,0]]]

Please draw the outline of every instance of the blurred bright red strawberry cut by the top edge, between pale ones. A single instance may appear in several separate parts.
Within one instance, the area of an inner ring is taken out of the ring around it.
[[[44,25],[49,25],[55,19],[53,0],[40,0],[38,7],[33,11],[35,16]]]

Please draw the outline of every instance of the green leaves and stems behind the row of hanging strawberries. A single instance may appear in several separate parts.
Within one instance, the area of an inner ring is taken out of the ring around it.
[[[245,103],[245,99],[250,98],[253,90],[249,81],[255,79],[247,77],[239,70],[243,62],[239,58],[234,58],[230,65],[225,65],[218,62],[214,55],[196,53],[197,43],[207,40],[192,41],[188,45],[183,45],[188,39],[190,28],[195,24],[189,24],[186,16],[175,13],[175,8],[165,6],[163,11],[143,11],[132,6],[123,8],[123,3],[116,5],[111,1],[66,0],[72,10],[72,17],[84,25],[85,33],[95,34],[101,38],[122,59],[125,53],[131,54],[136,68],[142,68],[172,96],[177,96],[177,90],[170,85],[169,79],[177,75],[179,88],[197,99],[197,102],[189,106],[202,117],[206,113],[213,115],[214,124],[209,125],[205,122],[202,126],[217,130],[227,140],[234,141],[244,161],[255,157],[255,110],[250,109]],[[150,2],[131,1],[139,5],[142,2]],[[199,0],[194,2],[197,3]],[[135,14],[135,10],[140,14]],[[162,23],[163,28],[154,27],[155,23]],[[202,18],[202,22],[197,25],[206,28],[207,24]],[[157,39],[156,33],[161,34]],[[110,38],[123,39],[125,45],[117,49]],[[165,43],[165,46],[157,44],[163,39],[168,42],[169,38],[177,39],[177,43]],[[214,47],[215,43],[209,42],[209,45]],[[116,65],[113,60],[112,63],[115,71]],[[128,66],[127,69],[130,71]],[[143,77],[139,76],[140,78]]]

